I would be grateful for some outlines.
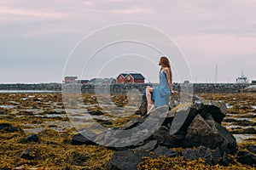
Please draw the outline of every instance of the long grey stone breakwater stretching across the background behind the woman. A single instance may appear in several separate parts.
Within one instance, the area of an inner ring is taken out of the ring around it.
[[[76,83],[63,84],[64,87],[72,89],[78,88]],[[112,94],[125,94],[129,89],[138,89],[143,92],[143,89],[152,84],[82,84],[79,87],[84,94],[95,94],[101,90],[101,93]],[[157,84],[153,84],[156,86]],[[240,93],[244,91],[244,88],[251,86],[252,84],[240,84],[240,83],[174,83],[173,88],[180,90],[190,88],[193,89],[195,94],[224,94],[224,93]],[[192,88],[193,87],[193,88]],[[37,83],[37,84],[0,84],[0,90],[52,90],[61,91],[61,83]]]

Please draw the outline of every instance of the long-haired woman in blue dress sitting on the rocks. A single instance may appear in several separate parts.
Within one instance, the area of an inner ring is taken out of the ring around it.
[[[172,89],[172,71],[169,59],[161,57],[159,61],[160,68],[160,84],[157,87],[146,88],[146,97],[148,103],[148,113],[155,107],[166,105],[166,99],[170,94],[177,94]],[[147,114],[148,114],[147,113]]]

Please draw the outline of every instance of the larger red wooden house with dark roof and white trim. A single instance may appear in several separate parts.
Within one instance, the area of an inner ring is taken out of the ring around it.
[[[116,78],[116,83],[124,84],[124,83],[144,83],[145,77],[143,77],[140,73],[121,73]]]

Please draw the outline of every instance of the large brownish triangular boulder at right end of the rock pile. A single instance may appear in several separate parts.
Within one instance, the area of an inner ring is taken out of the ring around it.
[[[206,146],[212,150],[220,149],[222,153],[235,154],[237,150],[234,136],[215,122],[211,116],[205,120],[197,115],[188,127],[188,133],[182,141],[182,146],[191,148],[193,146]]]

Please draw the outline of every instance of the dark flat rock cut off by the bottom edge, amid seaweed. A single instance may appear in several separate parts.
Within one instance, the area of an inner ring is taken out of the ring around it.
[[[113,153],[108,162],[108,170],[132,170],[137,169],[137,164],[143,161],[143,156],[149,156],[148,152],[143,150],[125,150]]]

